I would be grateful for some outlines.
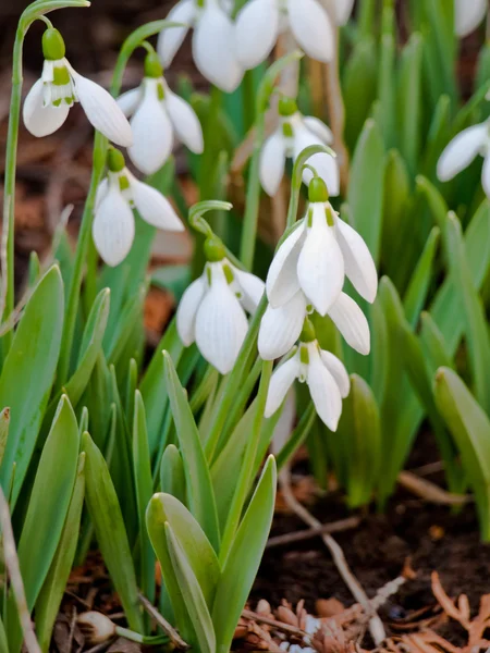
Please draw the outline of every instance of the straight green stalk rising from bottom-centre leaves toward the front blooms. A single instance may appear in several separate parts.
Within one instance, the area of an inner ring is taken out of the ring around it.
[[[267,392],[272,374],[273,361],[262,362],[262,375],[260,378],[259,391],[257,394],[257,412],[254,419],[254,427],[250,436],[248,438],[247,447],[243,459],[242,467],[236,483],[235,493],[228,514],[226,523],[224,527],[223,538],[220,546],[220,565],[224,567],[228,555],[235,538],[236,529],[242,517],[243,506],[248,496],[250,489],[252,477],[254,475],[255,459],[260,441],[260,432],[264,421],[264,410],[266,408]]]

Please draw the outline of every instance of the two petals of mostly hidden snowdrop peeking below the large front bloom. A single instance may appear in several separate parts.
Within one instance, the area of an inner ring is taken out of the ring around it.
[[[267,307],[260,321],[258,350],[264,360],[275,360],[292,349],[298,341],[311,306],[302,291],[279,308]],[[370,332],[366,316],[352,297],[341,293],[330,307],[329,318],[350,347],[367,356],[370,352]]]

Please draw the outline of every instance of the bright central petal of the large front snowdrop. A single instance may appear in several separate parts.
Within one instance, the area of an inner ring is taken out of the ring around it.
[[[324,316],[344,285],[344,257],[335,238],[335,227],[327,224],[324,206],[314,204],[309,210],[313,224],[297,261],[297,276],[306,297],[320,316]]]

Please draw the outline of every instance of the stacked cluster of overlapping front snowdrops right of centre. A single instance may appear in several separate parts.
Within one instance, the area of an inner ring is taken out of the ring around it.
[[[308,313],[316,310],[328,315],[351,347],[368,354],[368,322],[342,287],[347,276],[359,295],[371,303],[378,274],[366,243],[339,218],[328,197],[324,182],[314,177],[306,215],[281,244],[269,269],[269,306],[260,324],[258,348],[265,360],[287,357],[272,375],[266,417],[278,410],[298,379],[308,384],[319,417],[335,431],[342,398],[350,391],[348,375],[333,354],[320,348]]]

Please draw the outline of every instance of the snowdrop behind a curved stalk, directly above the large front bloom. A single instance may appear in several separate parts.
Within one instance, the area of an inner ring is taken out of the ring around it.
[[[279,127],[266,140],[260,155],[260,183],[271,197],[279,189],[287,158],[295,161],[310,145],[329,145],[333,140],[329,127],[317,118],[302,115],[296,102],[291,98],[283,97],[279,101]],[[332,197],[339,195],[339,167],[335,159],[320,152],[310,157],[309,163],[327,184],[329,194]],[[305,184],[308,184],[311,177],[311,171],[305,169]]]

